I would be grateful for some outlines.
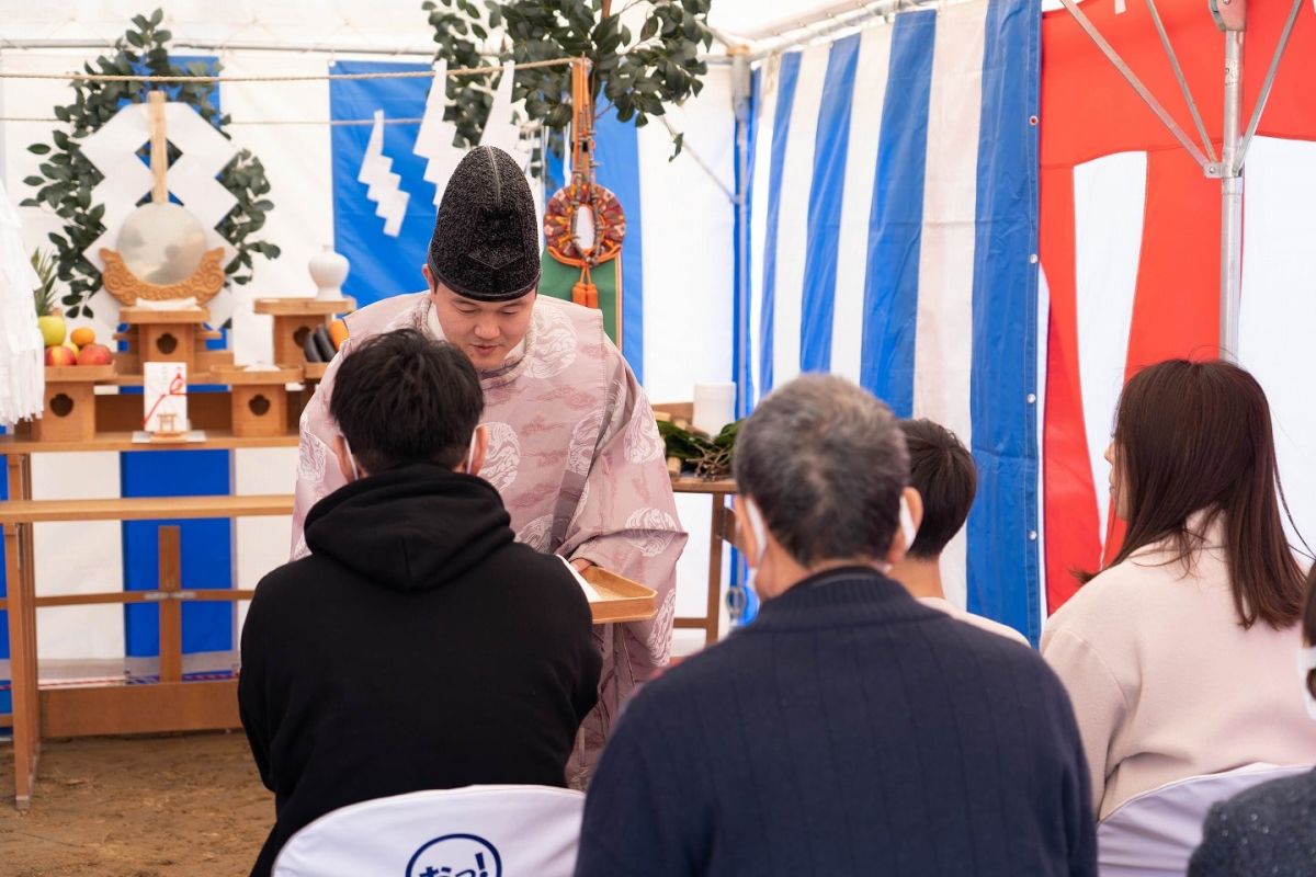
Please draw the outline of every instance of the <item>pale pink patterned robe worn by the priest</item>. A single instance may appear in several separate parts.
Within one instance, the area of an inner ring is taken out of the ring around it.
[[[350,338],[301,414],[292,556],[307,554],[311,506],[345,484],[329,414],[334,375],[370,335],[415,327],[433,335],[426,293],[378,301],[349,316]],[[544,552],[583,557],[658,592],[650,622],[595,626],[603,652],[599,705],[576,738],[569,781],[583,786],[626,697],[671,653],[676,519],[662,438],[644,389],[603,331],[596,310],[541,296],[524,351],[480,375],[490,446],[480,476],[497,488],[516,538]]]

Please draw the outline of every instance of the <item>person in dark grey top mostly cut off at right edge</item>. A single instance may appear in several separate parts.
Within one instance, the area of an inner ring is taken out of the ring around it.
[[[1298,676],[1316,721],[1316,567],[1307,573],[1304,646]],[[1316,726],[1312,727],[1316,734]],[[1216,803],[1188,877],[1311,877],[1316,874],[1316,770],[1271,780]]]

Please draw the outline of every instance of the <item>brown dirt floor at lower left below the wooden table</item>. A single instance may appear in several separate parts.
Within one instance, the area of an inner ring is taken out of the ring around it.
[[[47,740],[13,809],[0,744],[0,876],[243,877],[274,823],[241,734]]]

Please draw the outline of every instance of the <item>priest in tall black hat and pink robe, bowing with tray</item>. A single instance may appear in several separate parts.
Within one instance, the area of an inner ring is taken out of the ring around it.
[[[292,556],[307,551],[311,506],[343,484],[332,464],[341,364],[379,333],[411,327],[459,347],[480,376],[488,437],[480,475],[503,496],[530,547],[596,564],[658,592],[658,615],[596,628],[604,660],[599,706],[582,728],[571,784],[584,785],[613,718],[671,653],[676,517],[666,452],[644,389],[597,310],[537,295],[534,199],[504,151],[480,146],[443,191],[426,291],[384,298],[346,318],[350,333],[301,415]]]

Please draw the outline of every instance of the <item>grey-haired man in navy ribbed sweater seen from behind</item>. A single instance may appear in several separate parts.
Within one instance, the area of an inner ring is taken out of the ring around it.
[[[886,575],[921,513],[908,477],[891,412],[849,381],[758,406],[736,480],[763,607],[630,703],[578,877],[1096,874],[1059,681]]]

